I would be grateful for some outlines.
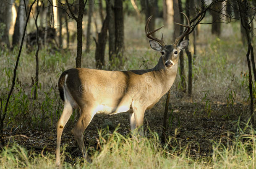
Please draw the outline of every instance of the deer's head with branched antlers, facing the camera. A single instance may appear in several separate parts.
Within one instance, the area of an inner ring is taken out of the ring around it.
[[[185,13],[182,13],[182,14],[185,15]],[[188,39],[182,40],[182,39],[185,37],[185,35],[187,35],[187,33],[190,30],[189,19],[185,15],[185,18],[188,21],[188,25],[183,25],[183,24],[180,24],[180,23],[176,23],[178,25],[186,27],[187,29],[182,33],[182,35],[180,35],[178,38],[175,39],[174,44],[165,45],[163,34],[162,34],[161,39],[158,39],[158,38],[155,38],[155,37],[152,36],[152,33],[161,29],[163,26],[161,26],[160,28],[157,28],[155,30],[149,31],[149,21],[151,20],[151,18],[152,18],[152,16],[150,16],[148,18],[148,20],[146,22],[146,27],[145,27],[146,36],[149,39],[151,39],[151,40],[149,40],[150,47],[161,53],[162,61],[163,61],[163,64],[165,65],[166,68],[172,68],[172,66],[174,66],[175,64],[178,63],[178,60],[179,60],[178,56],[179,56],[180,51],[185,49],[188,46],[189,40]]]

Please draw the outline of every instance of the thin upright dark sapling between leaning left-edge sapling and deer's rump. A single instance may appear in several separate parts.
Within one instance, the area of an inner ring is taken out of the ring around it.
[[[40,7],[39,7],[39,0],[37,0],[37,15],[36,15],[36,18],[35,18],[35,25],[36,25],[36,28],[37,28],[37,51],[36,51],[36,54],[35,54],[35,57],[36,57],[36,78],[35,78],[35,88],[34,88],[34,100],[37,99],[37,88],[38,88],[38,81],[39,81],[39,78],[38,78],[38,74],[39,74],[39,58],[38,58],[38,52],[39,52],[39,29],[38,29],[38,25],[37,25],[37,18],[38,18],[38,15],[40,13]]]

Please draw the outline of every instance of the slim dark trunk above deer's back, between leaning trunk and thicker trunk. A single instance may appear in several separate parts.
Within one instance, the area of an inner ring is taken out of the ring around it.
[[[111,65],[113,57],[115,57],[115,13],[114,13],[114,0],[106,0],[107,4],[107,17],[108,17],[108,45],[109,45],[109,62]]]

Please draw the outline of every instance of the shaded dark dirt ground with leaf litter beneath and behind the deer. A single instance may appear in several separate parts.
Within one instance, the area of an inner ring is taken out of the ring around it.
[[[144,116],[144,133],[149,134],[149,129],[157,132],[161,137],[163,124],[165,96],[151,110],[146,111]],[[240,116],[240,124],[247,122],[248,105],[235,103],[230,107],[224,103],[211,103],[207,109],[204,103],[191,103],[191,101],[170,101],[168,114],[167,136],[172,139],[170,148],[188,146],[190,156],[194,158],[209,157],[212,153],[213,141],[225,143],[234,139],[237,132],[237,124]],[[61,144],[68,144],[67,150],[72,156],[80,156],[80,151],[71,134],[74,121],[69,121],[63,131]],[[130,133],[129,114],[117,115],[97,114],[84,132],[86,146],[97,147],[99,137],[98,130],[109,126],[110,132],[119,126],[118,132],[122,135]],[[55,153],[56,129],[34,129],[26,131],[5,130],[5,139],[9,145],[15,141],[17,144],[41,152],[50,151]]]

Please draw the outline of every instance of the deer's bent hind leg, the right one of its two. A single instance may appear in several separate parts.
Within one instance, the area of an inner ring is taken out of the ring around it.
[[[75,127],[72,129],[72,133],[77,141],[77,144],[83,154],[84,159],[89,161],[89,159],[86,158],[86,148],[84,146],[84,130],[87,128],[87,126],[90,124],[91,119],[94,117],[94,107],[86,105],[81,108],[81,116],[79,117]]]

